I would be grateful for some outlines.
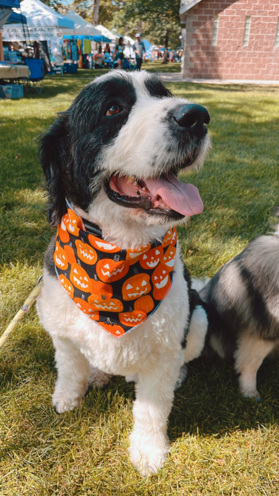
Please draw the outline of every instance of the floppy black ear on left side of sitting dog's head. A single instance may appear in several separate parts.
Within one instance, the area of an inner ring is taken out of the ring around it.
[[[62,177],[65,171],[65,149],[67,141],[67,112],[58,118],[48,131],[40,136],[39,157],[45,176],[45,189],[49,196],[48,219],[57,226],[67,211]]]

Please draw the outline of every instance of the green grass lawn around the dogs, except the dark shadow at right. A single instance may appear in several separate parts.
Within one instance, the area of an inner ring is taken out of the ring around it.
[[[34,138],[102,72],[49,77],[42,95],[0,100],[0,332],[41,275],[54,234]],[[191,274],[212,276],[275,220],[279,89],[168,86],[211,115],[213,149],[185,179],[198,186],[204,212],[179,237]],[[167,463],[143,479],[127,455],[133,385],[114,377],[77,410],[56,414],[54,349],[32,309],[0,351],[0,495],[279,495],[278,375],[278,361],[265,361],[255,404],[240,397],[231,363],[190,364],[169,418]]]

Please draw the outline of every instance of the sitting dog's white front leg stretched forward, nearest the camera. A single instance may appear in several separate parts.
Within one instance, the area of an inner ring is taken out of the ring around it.
[[[167,418],[171,410],[173,391],[182,360],[172,370],[161,368],[152,373],[139,374],[135,385],[136,400],[133,406],[134,429],[128,449],[130,460],[142,473],[156,473],[167,459],[169,441]]]

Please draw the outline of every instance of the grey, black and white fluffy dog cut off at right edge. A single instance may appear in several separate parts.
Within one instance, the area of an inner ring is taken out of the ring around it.
[[[260,400],[257,371],[279,345],[279,225],[225,263],[203,288],[198,281],[193,286],[208,317],[204,355],[234,358],[242,395]]]

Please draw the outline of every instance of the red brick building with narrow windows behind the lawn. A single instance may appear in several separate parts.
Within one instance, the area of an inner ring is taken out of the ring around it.
[[[279,0],[181,0],[184,77],[279,80]]]

